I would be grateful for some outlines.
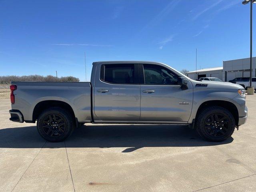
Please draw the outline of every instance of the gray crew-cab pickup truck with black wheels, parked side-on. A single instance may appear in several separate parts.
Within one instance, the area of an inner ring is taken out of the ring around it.
[[[247,118],[244,88],[195,81],[158,62],[94,62],[91,82],[12,82],[10,120],[51,142],[84,123],[185,124],[226,140]]]

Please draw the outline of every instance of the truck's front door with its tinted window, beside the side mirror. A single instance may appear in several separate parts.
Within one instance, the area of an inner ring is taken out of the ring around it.
[[[140,64],[141,73],[140,120],[187,122],[192,110],[192,83],[189,81],[188,89],[182,90],[177,84],[179,74],[161,64]]]

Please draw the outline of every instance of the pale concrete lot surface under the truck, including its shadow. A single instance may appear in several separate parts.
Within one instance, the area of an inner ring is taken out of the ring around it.
[[[86,124],[50,143],[36,124],[11,122],[0,99],[0,191],[255,192],[256,95],[246,105],[246,124],[224,142],[187,126]]]

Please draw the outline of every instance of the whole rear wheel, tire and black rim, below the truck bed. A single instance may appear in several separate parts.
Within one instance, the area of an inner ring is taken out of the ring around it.
[[[36,126],[39,134],[45,140],[61,142],[73,132],[75,122],[67,110],[52,107],[44,110],[39,115]]]

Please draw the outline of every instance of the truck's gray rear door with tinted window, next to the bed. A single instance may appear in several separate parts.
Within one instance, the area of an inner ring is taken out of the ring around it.
[[[98,119],[95,122],[139,120],[138,64],[102,63],[97,66],[96,71],[94,114]]]

